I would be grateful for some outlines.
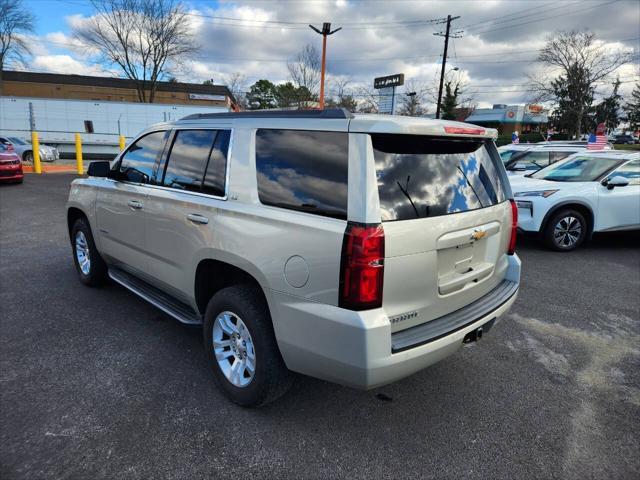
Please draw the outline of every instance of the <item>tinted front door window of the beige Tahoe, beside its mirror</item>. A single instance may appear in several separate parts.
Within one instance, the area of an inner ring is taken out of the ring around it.
[[[149,183],[158,154],[164,147],[167,132],[153,132],[139,138],[125,152],[120,162],[122,179]]]

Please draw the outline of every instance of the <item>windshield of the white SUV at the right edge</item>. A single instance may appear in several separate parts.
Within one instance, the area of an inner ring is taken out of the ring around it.
[[[593,182],[620,163],[615,158],[580,155],[538,170],[531,174],[531,178],[554,182]]]

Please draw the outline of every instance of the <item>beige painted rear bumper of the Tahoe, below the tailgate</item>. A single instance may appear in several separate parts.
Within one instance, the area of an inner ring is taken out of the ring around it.
[[[485,305],[468,322],[452,324],[451,331],[395,353],[397,334],[392,335],[383,308],[354,312],[271,292],[274,329],[289,369],[356,388],[375,388],[448,357],[469,332],[491,320],[498,322],[518,294],[520,260],[515,255],[509,257],[506,280],[515,282],[508,298]]]

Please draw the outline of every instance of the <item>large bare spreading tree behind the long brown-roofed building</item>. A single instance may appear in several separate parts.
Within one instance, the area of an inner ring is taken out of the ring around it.
[[[95,15],[74,29],[103,63],[134,80],[138,99],[152,103],[158,82],[198,51],[179,0],[91,0]]]

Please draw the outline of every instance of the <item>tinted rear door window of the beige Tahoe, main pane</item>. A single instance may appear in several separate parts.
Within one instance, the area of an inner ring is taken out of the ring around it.
[[[192,192],[201,191],[216,133],[216,130],[178,130],[169,153],[163,185]]]

